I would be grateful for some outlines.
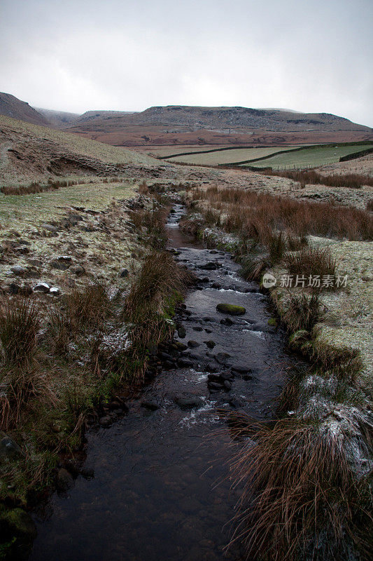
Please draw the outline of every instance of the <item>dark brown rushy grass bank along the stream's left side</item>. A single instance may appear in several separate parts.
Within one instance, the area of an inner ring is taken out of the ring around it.
[[[147,188],[142,185],[140,190]],[[111,262],[106,255],[97,263],[96,274],[80,276],[80,282],[70,286],[65,283],[56,295],[49,288],[33,290],[32,280],[31,290],[25,290],[20,277],[17,291],[3,285],[3,557],[27,553],[35,534],[27,511],[41,494],[53,487],[65,490],[76,476],[85,428],[108,426],[125,414],[126,396],[153,375],[148,372],[152,353],[173,334],[175,306],[191,282],[189,273],[163,250],[167,237],[162,205],[141,196],[121,203],[120,210],[115,205],[114,215],[111,227],[125,218],[137,236],[136,243],[126,239],[133,257],[115,278],[107,274]],[[69,255],[63,257],[57,262],[69,263]],[[70,277],[70,266],[59,273]]]

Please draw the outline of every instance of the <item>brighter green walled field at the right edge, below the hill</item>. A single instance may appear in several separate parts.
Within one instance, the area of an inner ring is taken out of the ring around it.
[[[276,170],[285,168],[307,168],[325,165],[328,163],[337,163],[342,156],[348,156],[358,151],[371,149],[373,144],[348,144],[346,146],[314,146],[304,148],[302,150],[286,152],[286,154],[277,154],[271,158],[265,158],[260,161],[243,164],[242,167],[250,166],[255,168],[273,168]]]

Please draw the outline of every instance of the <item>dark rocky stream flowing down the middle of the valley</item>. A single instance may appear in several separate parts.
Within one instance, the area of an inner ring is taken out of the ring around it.
[[[258,287],[239,279],[229,254],[185,241],[177,227],[183,210],[175,210],[170,245],[182,246],[176,259],[204,278],[178,318],[186,330],[179,340],[198,344],[183,352],[191,365],[164,370],[129,401],[125,417],[87,433],[85,466],[94,469],[94,479],[78,476],[67,495],[54,494],[35,514],[38,536],[31,561],[242,558],[239,544],[223,551],[239,489],[231,490],[229,460],[235,449],[217,408],[271,417],[281,369],[291,358],[283,351],[281,333],[268,327],[270,313]],[[200,269],[206,262],[218,263],[218,269]],[[221,288],[211,288],[213,283]],[[245,306],[245,316],[233,318],[233,325],[220,323],[225,318],[216,311],[220,302]],[[216,346],[209,349],[206,340]],[[210,393],[206,370],[234,372],[230,391]],[[181,397],[200,403],[184,410],[175,402]],[[156,400],[160,407],[150,411],[141,406],[143,400]]]

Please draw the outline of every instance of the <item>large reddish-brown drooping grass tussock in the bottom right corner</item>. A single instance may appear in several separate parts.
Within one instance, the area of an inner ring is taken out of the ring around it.
[[[233,466],[244,487],[236,539],[248,557],[337,560],[357,546],[368,559],[367,480],[356,479],[332,431],[293,419],[248,426],[251,439]]]

